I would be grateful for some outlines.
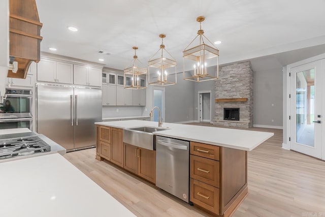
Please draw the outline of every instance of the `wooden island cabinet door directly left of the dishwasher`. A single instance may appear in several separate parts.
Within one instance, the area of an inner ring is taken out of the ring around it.
[[[138,175],[142,178],[156,182],[156,151],[139,148]]]

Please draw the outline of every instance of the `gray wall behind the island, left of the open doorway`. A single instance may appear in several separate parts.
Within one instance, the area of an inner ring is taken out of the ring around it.
[[[165,87],[166,122],[182,122],[194,118],[194,82],[177,74],[177,84]]]

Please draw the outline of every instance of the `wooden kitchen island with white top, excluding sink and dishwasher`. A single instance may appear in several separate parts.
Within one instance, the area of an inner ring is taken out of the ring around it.
[[[96,159],[108,160],[156,183],[156,150],[123,143],[123,130],[157,128],[157,122],[125,120],[95,125]],[[189,202],[222,217],[231,216],[248,194],[247,151],[273,136],[267,132],[176,123],[164,123],[152,134],[189,141]]]

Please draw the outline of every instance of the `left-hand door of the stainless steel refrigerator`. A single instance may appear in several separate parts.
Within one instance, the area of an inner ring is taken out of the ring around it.
[[[37,132],[74,148],[73,87],[37,85]]]

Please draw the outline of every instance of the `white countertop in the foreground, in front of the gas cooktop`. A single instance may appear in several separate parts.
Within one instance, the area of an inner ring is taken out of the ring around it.
[[[0,163],[2,217],[135,216],[60,154]]]

